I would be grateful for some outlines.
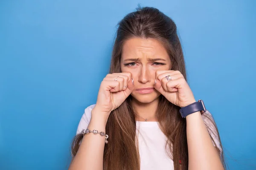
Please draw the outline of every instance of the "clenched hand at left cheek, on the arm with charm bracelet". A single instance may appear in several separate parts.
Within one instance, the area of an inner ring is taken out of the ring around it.
[[[133,90],[134,80],[131,78],[131,73],[108,74],[101,82],[94,108],[109,116],[111,111],[118,108]]]

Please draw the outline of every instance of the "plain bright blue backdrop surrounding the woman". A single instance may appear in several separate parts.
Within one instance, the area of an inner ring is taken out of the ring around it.
[[[217,122],[230,169],[256,169],[256,1],[1,0],[1,170],[68,168],[116,24],[138,3],[177,24],[189,85]]]

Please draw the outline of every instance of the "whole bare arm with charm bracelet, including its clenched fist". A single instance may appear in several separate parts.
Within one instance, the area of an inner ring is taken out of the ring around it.
[[[131,78],[131,73],[107,74],[101,82],[97,102],[91,111],[87,128],[106,133],[109,114],[125,101],[133,89],[134,80]],[[100,136],[99,133],[85,134],[69,170],[103,170],[104,147],[104,136]]]

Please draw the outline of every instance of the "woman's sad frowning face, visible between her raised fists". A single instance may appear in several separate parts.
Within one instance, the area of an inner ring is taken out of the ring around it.
[[[154,88],[155,72],[169,70],[171,60],[163,45],[155,39],[131,38],[122,49],[121,72],[130,72],[135,89],[131,93],[137,101],[149,103],[160,96]],[[139,90],[152,88],[151,90]]]

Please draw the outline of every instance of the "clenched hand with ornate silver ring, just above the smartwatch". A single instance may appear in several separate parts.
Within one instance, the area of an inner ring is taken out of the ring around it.
[[[170,76],[172,80],[167,80]],[[195,101],[195,97],[180,71],[158,70],[156,71],[156,84],[154,88],[174,105],[185,107]]]

